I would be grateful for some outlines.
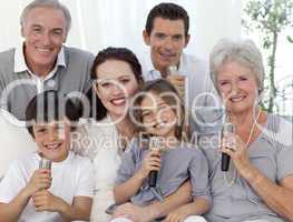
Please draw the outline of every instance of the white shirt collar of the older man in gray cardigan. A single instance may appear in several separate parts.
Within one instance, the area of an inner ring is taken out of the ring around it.
[[[29,71],[30,73],[31,70],[29,70],[27,63],[26,63],[26,60],[25,60],[25,51],[23,51],[23,43],[22,44],[19,44],[16,47],[16,53],[14,53],[14,72],[23,72],[23,71]],[[65,60],[65,50],[64,50],[64,47],[61,48],[60,52],[58,53],[58,57],[57,57],[57,63],[55,65],[55,69],[57,69],[57,67],[64,67],[66,68],[67,64],[66,64],[66,60]]]

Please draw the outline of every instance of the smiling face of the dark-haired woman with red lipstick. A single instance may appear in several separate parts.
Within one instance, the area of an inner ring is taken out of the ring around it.
[[[107,60],[96,69],[96,92],[110,117],[127,112],[129,99],[138,89],[130,65],[125,61]]]

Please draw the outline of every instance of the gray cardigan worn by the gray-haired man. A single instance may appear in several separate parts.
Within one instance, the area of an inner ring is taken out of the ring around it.
[[[64,51],[67,67],[58,67],[52,79],[45,81],[43,90],[57,90],[64,94],[86,92],[90,88],[94,56],[68,47],[64,47]],[[23,120],[29,101],[37,94],[37,87],[27,71],[14,72],[14,52],[16,49],[10,49],[0,53],[0,104]]]

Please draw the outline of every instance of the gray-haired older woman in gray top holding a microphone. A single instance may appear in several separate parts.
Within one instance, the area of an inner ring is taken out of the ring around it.
[[[293,221],[292,124],[258,104],[264,88],[261,52],[248,40],[221,40],[209,59],[226,121],[236,131],[214,149],[204,147],[213,198],[207,221]],[[215,134],[205,137],[205,141],[215,139]],[[227,172],[221,170],[218,147],[231,157]]]

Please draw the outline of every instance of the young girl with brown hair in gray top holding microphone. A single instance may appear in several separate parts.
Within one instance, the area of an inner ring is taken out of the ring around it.
[[[160,148],[150,150],[137,137],[123,157],[117,172],[114,196],[117,204],[130,201],[136,205],[149,205],[174,193],[186,180],[191,180],[193,202],[182,205],[167,215],[166,221],[204,221],[209,209],[207,161],[201,150],[183,141],[184,107],[175,88],[159,79],[145,83],[134,99],[133,120],[139,135],[149,140],[159,138]],[[148,183],[152,171],[158,171],[156,186]],[[121,208],[120,208],[121,209]],[[127,218],[127,211],[116,213]],[[129,218],[129,216],[128,216]],[[116,219],[117,220],[117,219]]]

